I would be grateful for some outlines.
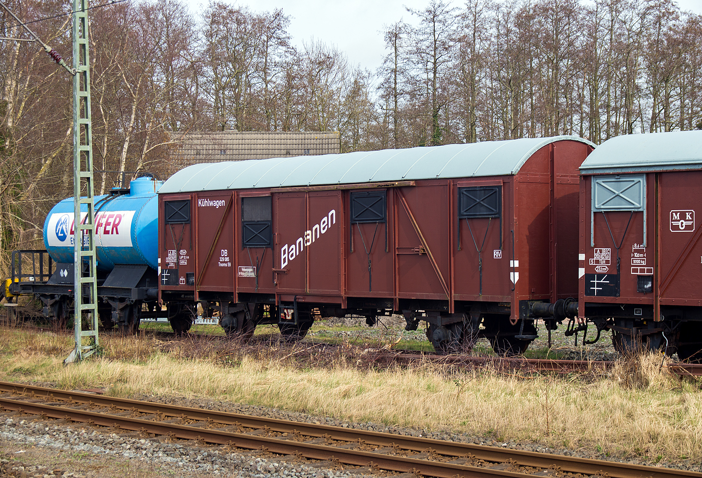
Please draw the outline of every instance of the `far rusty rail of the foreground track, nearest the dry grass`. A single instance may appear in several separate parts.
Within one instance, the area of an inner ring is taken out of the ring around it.
[[[590,458],[576,458],[572,456],[554,455],[550,453],[537,453],[534,451],[503,449],[496,446],[447,442],[425,437],[411,437],[406,435],[395,435],[392,433],[371,432],[369,430],[354,430],[332,425],[300,423],[281,420],[279,418],[232,414],[223,411],[203,410],[177,405],[156,404],[152,402],[141,402],[139,400],[105,397],[101,395],[71,392],[67,390],[55,390],[53,388],[38,387],[36,385],[24,385],[21,383],[0,381],[0,391],[32,394],[34,397],[46,397],[50,400],[65,400],[82,404],[92,403],[105,407],[135,410],[145,414],[160,413],[164,414],[164,416],[171,417],[185,415],[195,420],[209,420],[215,423],[221,423],[222,425],[241,425],[246,428],[256,429],[267,427],[274,432],[299,432],[302,435],[308,435],[310,437],[323,437],[326,435],[330,439],[347,442],[362,440],[367,444],[373,444],[376,446],[390,446],[395,444],[400,448],[409,451],[425,451],[427,449],[432,449],[436,453],[444,456],[470,455],[474,456],[475,459],[491,462],[505,462],[508,460],[513,460],[520,466],[543,468],[557,466],[560,467],[562,471],[574,473],[579,472],[585,474],[597,474],[597,472],[607,472],[611,478],[671,478],[680,476],[702,478],[702,473],[687,472],[682,470],[661,469],[658,467],[649,467],[644,465],[593,460]],[[198,430],[201,429],[198,428]],[[248,437],[249,435],[244,434],[244,436]],[[242,448],[243,447],[244,446],[242,446]]]

